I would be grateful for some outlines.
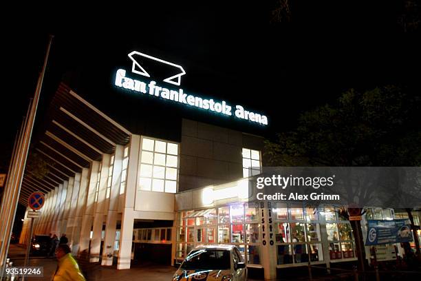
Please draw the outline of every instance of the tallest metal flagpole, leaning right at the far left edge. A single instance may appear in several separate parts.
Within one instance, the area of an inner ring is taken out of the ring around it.
[[[36,90],[35,90],[35,94],[34,94],[34,101],[32,102],[32,106],[31,106],[31,111],[30,111],[30,116],[27,120],[27,123],[25,124],[25,132],[23,134],[23,143],[22,146],[19,146],[19,157],[17,158],[17,163],[15,163],[14,165],[16,165],[16,169],[17,169],[17,173],[14,176],[14,183],[12,183],[12,185],[10,185],[10,194],[11,194],[11,204],[10,204],[10,209],[5,212],[6,213],[6,229],[4,229],[4,233],[3,234],[3,243],[1,245],[0,248],[0,266],[1,266],[1,270],[0,270],[0,275],[3,276],[3,272],[6,266],[6,257],[8,256],[8,248],[9,248],[9,244],[10,244],[10,239],[5,240],[5,237],[9,237],[10,233],[12,232],[12,226],[13,226],[13,220],[14,220],[14,216],[16,216],[16,209],[17,209],[17,204],[18,204],[18,198],[19,198],[19,194],[21,191],[21,184],[22,184],[22,178],[23,178],[23,173],[25,171],[25,164],[26,164],[26,159],[28,157],[28,149],[29,149],[29,144],[30,144],[30,139],[32,136],[32,129],[34,127],[34,121],[35,121],[35,116],[36,116],[36,109],[38,107],[38,102],[39,102],[39,96],[41,94],[41,87],[43,84],[43,79],[44,79],[44,74],[45,74],[45,69],[47,67],[47,61],[48,61],[48,56],[50,54],[50,48],[51,48],[51,43],[52,43],[52,39],[53,36],[50,35],[50,41],[48,43],[48,47],[47,47],[47,54],[45,54],[45,59],[44,59],[44,64],[43,64],[43,70],[39,76],[39,80],[38,83],[36,85]],[[3,201],[4,202],[4,201]]]

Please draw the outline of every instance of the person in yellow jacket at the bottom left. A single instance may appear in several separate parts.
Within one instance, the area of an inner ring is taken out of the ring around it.
[[[53,281],[86,281],[67,244],[57,246],[56,257],[58,265],[52,278]]]

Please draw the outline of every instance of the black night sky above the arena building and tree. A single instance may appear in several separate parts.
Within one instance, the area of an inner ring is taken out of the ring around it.
[[[276,1],[245,2],[11,9],[19,12],[2,20],[8,90],[1,103],[0,169],[7,170],[49,33],[55,38],[39,116],[63,75],[90,79],[91,88],[80,92],[89,98],[92,85],[98,86],[92,94],[98,99],[111,83],[111,70],[129,68],[131,50],[182,65],[185,90],[264,112],[276,132],[351,87],[420,90],[420,33],[398,25],[404,1],[290,0],[286,23],[270,23]]]

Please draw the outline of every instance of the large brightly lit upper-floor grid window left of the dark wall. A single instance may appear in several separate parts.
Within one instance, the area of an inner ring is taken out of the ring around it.
[[[139,189],[175,193],[178,180],[178,145],[142,137]]]

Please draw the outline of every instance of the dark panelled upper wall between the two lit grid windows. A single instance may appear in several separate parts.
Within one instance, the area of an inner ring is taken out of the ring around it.
[[[182,120],[178,191],[242,178],[241,149],[261,150],[263,138],[233,129]]]

